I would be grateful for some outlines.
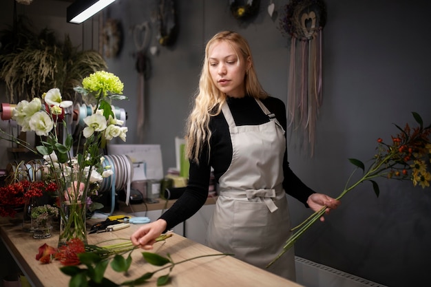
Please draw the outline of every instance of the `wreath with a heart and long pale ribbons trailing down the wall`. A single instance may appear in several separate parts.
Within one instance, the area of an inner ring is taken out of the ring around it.
[[[291,38],[287,118],[299,145],[314,153],[315,128],[322,103],[322,30],[326,7],[321,0],[292,0],[280,28]]]

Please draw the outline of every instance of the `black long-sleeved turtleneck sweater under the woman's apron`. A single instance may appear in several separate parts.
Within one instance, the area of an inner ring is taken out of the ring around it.
[[[269,96],[262,100],[262,103],[271,113],[275,114],[280,125],[286,130],[286,107],[282,100]],[[264,114],[251,96],[245,96],[244,98],[229,97],[227,98],[227,104],[237,126],[261,125],[269,121],[268,116]],[[232,142],[229,126],[223,114],[220,113],[218,116],[211,117],[209,127],[212,132],[210,160],[208,161],[207,156],[208,147],[204,147],[200,153],[199,164],[190,162],[189,183],[185,193],[160,217],[166,220],[167,229],[187,220],[205,203],[208,197],[211,167],[214,169],[215,180],[218,182],[220,176],[227,171],[231,164]],[[284,152],[283,170],[283,187],[286,193],[308,206],[306,200],[314,191],[306,187],[290,169],[287,161],[287,149]]]

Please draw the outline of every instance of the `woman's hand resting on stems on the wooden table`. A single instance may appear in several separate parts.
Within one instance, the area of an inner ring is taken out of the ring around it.
[[[153,248],[156,238],[159,237],[163,231],[165,231],[167,223],[165,220],[156,220],[149,224],[140,226],[140,228],[135,231],[130,240],[135,246],[140,246],[140,248],[149,250]]]

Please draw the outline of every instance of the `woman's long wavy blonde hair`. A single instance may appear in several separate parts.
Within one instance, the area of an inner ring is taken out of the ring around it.
[[[266,98],[268,94],[264,91],[259,81],[253,65],[253,57],[249,43],[237,32],[223,31],[215,34],[211,40],[208,41],[205,47],[205,58],[200,73],[199,89],[196,92],[196,98],[193,110],[189,114],[186,126],[186,156],[187,158],[199,163],[198,157],[204,143],[207,142],[208,147],[209,139],[211,138],[211,131],[209,130],[209,119],[211,116],[220,114],[222,105],[226,102],[226,94],[220,92],[209,72],[209,51],[215,43],[226,41],[233,50],[235,50],[240,61],[250,59],[251,65],[244,76],[244,85],[246,96],[253,96],[254,98]],[[211,147],[210,147],[211,148]]]

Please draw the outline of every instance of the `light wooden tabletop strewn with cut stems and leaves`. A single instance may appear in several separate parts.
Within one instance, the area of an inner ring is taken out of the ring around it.
[[[120,231],[109,233],[89,234],[88,243],[98,244],[103,240],[126,238],[129,239],[139,225],[133,225]],[[45,240],[36,240],[30,233],[22,231],[21,222],[12,222],[6,218],[0,218],[1,240],[14,257],[15,261],[30,281],[32,286],[44,287],[63,287],[68,286],[70,277],[63,275],[59,267],[59,262],[51,264],[41,264],[36,261],[39,246],[48,244],[56,247],[59,235],[54,231],[52,237]],[[127,277],[122,273],[116,273],[110,267],[105,272],[105,277],[120,284],[123,281],[136,279],[147,272],[152,272],[160,267],[152,266],[145,262],[142,256],[142,249],[133,251],[133,263],[129,269]],[[180,262],[191,257],[200,255],[220,254],[207,246],[198,244],[185,237],[174,234],[165,242],[154,244],[152,252],[166,256],[168,253],[174,262]],[[154,275],[148,284],[143,286],[156,286],[156,279],[161,275],[167,274],[167,270],[162,270]],[[174,267],[171,272],[171,283],[167,286],[180,287],[224,287],[224,286],[284,286],[298,287],[299,285],[288,281],[277,275],[246,264],[231,256],[215,256],[194,259],[184,264]]]

